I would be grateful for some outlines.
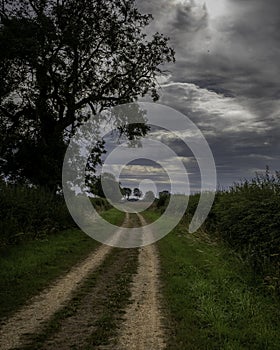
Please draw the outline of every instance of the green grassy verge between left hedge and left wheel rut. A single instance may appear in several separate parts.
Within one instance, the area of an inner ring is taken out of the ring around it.
[[[102,215],[116,225],[124,219],[115,209]],[[80,230],[72,229],[4,247],[0,251],[0,317],[9,316],[98,246]]]

